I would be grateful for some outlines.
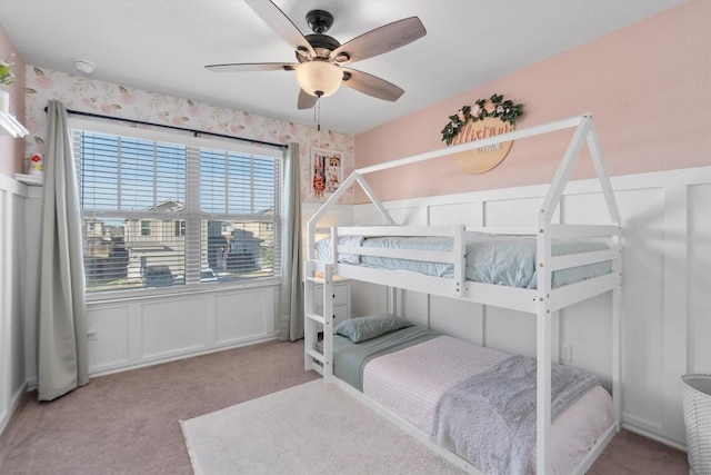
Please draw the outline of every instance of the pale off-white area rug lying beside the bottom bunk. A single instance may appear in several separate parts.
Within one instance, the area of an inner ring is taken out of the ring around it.
[[[462,473],[321,379],[180,424],[197,475]]]

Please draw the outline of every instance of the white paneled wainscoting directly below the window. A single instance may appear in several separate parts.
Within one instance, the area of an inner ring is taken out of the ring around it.
[[[88,303],[89,373],[114,373],[276,337],[277,286]]]

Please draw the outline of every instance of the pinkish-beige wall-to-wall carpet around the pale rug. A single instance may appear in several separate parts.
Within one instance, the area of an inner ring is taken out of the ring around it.
[[[314,379],[303,340],[268,342],[94,377],[51,403],[28,393],[0,434],[0,474],[192,475],[178,420]],[[629,431],[588,473],[650,474],[688,475],[687,454]]]

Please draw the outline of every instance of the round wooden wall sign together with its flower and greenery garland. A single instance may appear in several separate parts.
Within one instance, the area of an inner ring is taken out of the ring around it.
[[[515,129],[515,120],[523,113],[523,105],[503,100],[493,95],[479,99],[473,106],[463,106],[442,129],[442,140],[448,146],[507,133]],[[464,171],[483,174],[501,164],[511,149],[512,141],[480,147],[454,154],[454,161]]]

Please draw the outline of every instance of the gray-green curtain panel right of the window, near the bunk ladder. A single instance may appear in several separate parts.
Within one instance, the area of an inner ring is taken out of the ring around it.
[[[289,144],[284,150],[284,201],[279,339],[294,342],[303,338],[303,258],[298,144]]]

